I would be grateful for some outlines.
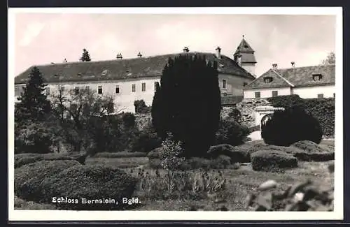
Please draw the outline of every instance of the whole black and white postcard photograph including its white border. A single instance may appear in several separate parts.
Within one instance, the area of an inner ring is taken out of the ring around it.
[[[343,218],[342,8],[8,23],[10,220]]]

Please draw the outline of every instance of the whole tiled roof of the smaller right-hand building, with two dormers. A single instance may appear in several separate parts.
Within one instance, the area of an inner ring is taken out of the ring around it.
[[[321,74],[321,80],[314,80]],[[272,77],[272,82],[265,83],[264,78]],[[259,78],[246,85],[244,89],[270,87],[307,87],[315,85],[335,85],[335,64],[320,66],[304,66],[295,68],[269,69]]]

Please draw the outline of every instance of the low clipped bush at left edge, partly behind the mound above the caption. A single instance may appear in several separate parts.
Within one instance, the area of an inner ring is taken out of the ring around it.
[[[38,161],[15,168],[15,195],[29,201],[38,202],[42,198],[41,182],[56,173],[60,173],[72,166],[81,167],[78,161]]]

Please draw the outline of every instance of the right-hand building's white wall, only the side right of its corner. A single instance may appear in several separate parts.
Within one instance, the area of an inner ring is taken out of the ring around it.
[[[325,98],[332,98],[335,94],[335,85],[294,87],[293,94],[299,95],[300,98],[317,98],[318,94],[323,94]]]

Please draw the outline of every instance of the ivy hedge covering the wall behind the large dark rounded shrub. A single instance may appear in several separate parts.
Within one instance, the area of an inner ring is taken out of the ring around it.
[[[300,98],[298,95],[267,98],[274,107],[290,108],[299,106],[311,113],[320,122],[323,136],[334,137],[335,98]]]

